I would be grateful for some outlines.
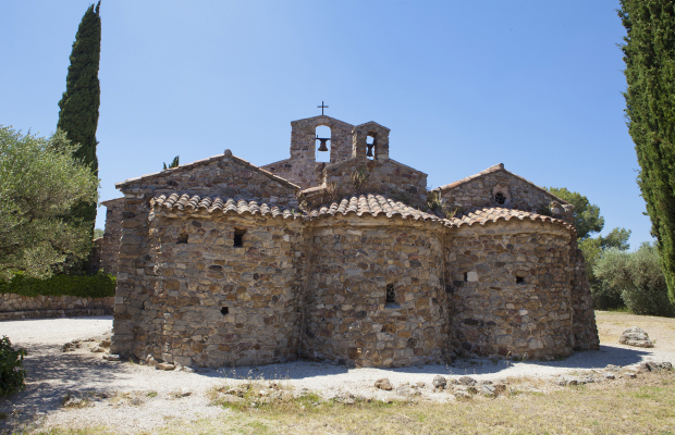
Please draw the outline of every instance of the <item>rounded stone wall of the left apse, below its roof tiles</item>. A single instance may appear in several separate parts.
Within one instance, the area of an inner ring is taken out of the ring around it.
[[[214,214],[170,217],[156,210],[130,352],[202,366],[294,359],[302,224]],[[235,229],[246,232],[241,248],[233,246]]]

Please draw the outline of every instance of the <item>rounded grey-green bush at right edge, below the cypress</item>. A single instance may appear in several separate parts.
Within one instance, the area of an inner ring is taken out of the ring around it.
[[[626,307],[636,314],[675,316],[668,299],[659,251],[642,244],[635,252],[610,249],[593,269],[609,293],[621,293]]]

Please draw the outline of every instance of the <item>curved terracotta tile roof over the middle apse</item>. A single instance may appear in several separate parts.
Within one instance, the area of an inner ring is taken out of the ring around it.
[[[442,221],[433,214],[425,213],[403,202],[373,194],[344,198],[339,202],[332,202],[310,211],[307,217],[317,219],[339,214],[346,215],[348,213],[354,213],[357,216],[370,214],[372,216],[385,215],[386,217],[401,216],[414,221]]]

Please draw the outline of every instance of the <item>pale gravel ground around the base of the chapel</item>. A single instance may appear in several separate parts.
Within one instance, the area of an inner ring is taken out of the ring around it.
[[[452,365],[425,365],[405,369],[347,369],[339,365],[297,361],[257,368],[198,370],[195,373],[164,372],[130,362],[112,362],[90,349],[109,337],[112,318],[76,318],[0,322],[0,335],[13,346],[25,347],[28,370],[26,389],[0,399],[0,432],[17,427],[28,430],[52,426],[71,428],[108,426],[122,434],[152,432],[168,422],[211,419],[228,413],[209,406],[206,394],[217,386],[247,382],[248,378],[278,381],[294,390],[308,388],[323,397],[345,393],[377,399],[396,398],[395,391],[376,389],[373,383],[388,377],[394,388],[424,382],[422,397],[447,401],[453,396],[434,393],[430,385],[435,375],[469,375],[477,381],[507,377],[556,377],[562,374],[604,369],[608,364],[635,365],[642,361],[670,361],[675,352],[637,349],[622,345],[601,346],[599,351],[576,352],[562,361],[512,362],[470,360]],[[87,341],[87,339],[89,339]],[[81,348],[62,352],[73,340]],[[68,395],[88,397],[85,408],[63,407]],[[398,397],[400,398],[400,397]]]

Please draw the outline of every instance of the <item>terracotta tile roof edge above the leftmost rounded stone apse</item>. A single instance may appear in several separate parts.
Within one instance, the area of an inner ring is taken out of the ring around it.
[[[280,209],[277,206],[269,207],[266,203],[258,206],[256,201],[246,201],[243,199],[236,200],[232,198],[221,197],[200,197],[198,195],[180,195],[171,194],[169,196],[162,195],[150,200],[150,206],[167,211],[182,211],[186,213],[196,213],[199,211],[206,211],[207,213],[223,214],[259,214],[261,216],[270,217],[292,217],[299,219],[299,213],[294,213],[289,209]]]

